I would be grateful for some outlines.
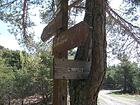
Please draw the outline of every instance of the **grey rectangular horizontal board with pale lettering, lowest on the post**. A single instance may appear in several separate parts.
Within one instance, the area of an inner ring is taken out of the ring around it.
[[[90,62],[54,59],[55,79],[86,79],[89,71]]]

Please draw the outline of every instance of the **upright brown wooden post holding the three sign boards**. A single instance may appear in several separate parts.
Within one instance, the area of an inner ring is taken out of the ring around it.
[[[58,9],[62,13],[62,28],[57,32],[56,36],[68,27],[68,0],[57,0]],[[67,58],[67,51],[61,53],[53,52],[55,58]],[[53,105],[67,105],[67,80],[54,79],[53,88]]]

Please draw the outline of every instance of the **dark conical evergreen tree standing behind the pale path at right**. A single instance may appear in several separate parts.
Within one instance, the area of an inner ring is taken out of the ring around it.
[[[121,61],[118,73],[120,75],[120,83],[122,83],[123,86],[123,92],[133,93],[136,91],[133,80],[133,77],[136,76],[137,73],[136,68],[134,68],[134,64],[129,61],[127,55],[120,55],[118,58]]]

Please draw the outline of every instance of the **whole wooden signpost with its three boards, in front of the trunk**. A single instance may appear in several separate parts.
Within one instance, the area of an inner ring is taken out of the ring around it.
[[[44,28],[41,39],[45,42],[53,35],[55,36],[53,42],[55,58],[53,105],[67,105],[66,79],[86,79],[90,70],[89,62],[66,60],[67,53],[69,49],[84,44],[88,36],[89,27],[85,22],[80,22],[67,29],[68,0],[56,0],[56,3],[56,17]]]

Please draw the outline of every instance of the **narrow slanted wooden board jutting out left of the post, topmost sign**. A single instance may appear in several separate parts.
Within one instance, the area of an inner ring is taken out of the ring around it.
[[[47,41],[56,31],[62,28],[62,13],[59,12],[56,17],[43,29],[41,40],[43,42]]]

